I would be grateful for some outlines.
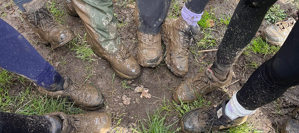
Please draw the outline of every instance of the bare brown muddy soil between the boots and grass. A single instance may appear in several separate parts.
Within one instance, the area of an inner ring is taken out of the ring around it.
[[[182,7],[183,0],[179,3]],[[216,51],[204,52],[199,57],[203,57],[202,61],[198,64],[194,64],[195,57],[190,52],[189,54],[189,72],[182,78],[175,76],[166,65],[159,65],[159,67],[155,68],[142,68],[142,73],[140,77],[130,80],[128,86],[135,88],[138,85],[143,85],[145,88],[149,89],[149,93],[153,96],[150,99],[140,98],[140,93],[134,93],[133,89],[124,89],[122,87],[121,79],[119,76],[115,74],[111,68],[111,65],[99,58],[93,57],[96,61],[91,63],[84,61],[81,59],[74,57],[75,52],[71,51],[67,45],[60,47],[56,50],[50,49],[49,44],[41,44],[39,42],[39,38],[34,34],[34,32],[29,28],[29,26],[21,20],[21,14],[16,10],[18,7],[15,4],[12,4],[8,7],[5,5],[11,4],[11,0],[2,0],[0,2],[0,9],[4,9],[0,11],[1,13],[6,12],[7,16],[5,18],[2,17],[3,20],[8,22],[11,26],[17,29],[31,44],[34,48],[45,58],[45,60],[49,61],[53,64],[53,66],[61,73],[62,75],[69,75],[76,79],[76,81],[84,82],[85,77],[88,75],[85,72],[84,64],[88,64],[93,69],[94,76],[91,76],[87,83],[92,84],[96,88],[99,88],[105,96],[105,105],[103,108],[96,110],[96,112],[108,112],[113,116],[112,128],[115,128],[117,125],[117,121],[121,118],[121,122],[118,125],[118,128],[121,129],[121,132],[132,132],[131,126],[136,127],[135,124],[138,120],[147,118],[147,111],[153,112],[159,107],[161,104],[161,99],[164,97],[166,99],[172,100],[171,90],[175,86],[179,85],[184,79],[195,76],[202,67],[207,65],[207,62],[211,62],[216,57]],[[46,2],[46,1],[45,1]],[[114,2],[114,10],[117,15],[117,20],[121,23],[127,23],[127,25],[119,28],[119,34],[121,36],[121,43],[124,44],[125,47],[136,57],[137,52],[137,36],[136,36],[136,26],[133,21],[133,8],[132,5],[124,5],[122,4],[123,0],[120,2]],[[62,5],[63,8],[63,0],[58,0],[58,4]],[[277,3],[276,3],[277,4]],[[291,14],[294,11],[294,7],[290,4],[282,4],[281,8],[287,10],[288,14]],[[214,12],[216,18],[220,18],[220,15],[233,14],[233,11],[237,5],[236,0],[211,0],[206,6],[207,10],[215,9]],[[257,34],[260,34],[261,30],[268,26],[270,23],[266,21],[263,22]],[[79,17],[73,17],[70,15],[66,16],[66,23],[68,27],[72,28],[76,34],[79,33],[81,36],[84,35],[85,29],[83,24],[81,23],[81,19]],[[212,34],[220,38],[223,36],[226,30],[225,25],[215,26],[215,31]],[[217,30],[217,31],[216,31]],[[219,32],[218,32],[219,31]],[[198,38],[201,38],[202,35],[198,35]],[[219,43],[218,43],[219,44]],[[192,44],[195,46],[195,42]],[[213,49],[217,49],[214,47]],[[164,51],[165,52],[165,51]],[[235,75],[233,76],[233,81],[237,81],[232,85],[224,88],[227,91],[216,90],[208,93],[205,96],[207,101],[211,101],[211,105],[218,104],[223,100],[227,100],[234,92],[239,90],[241,86],[246,82],[251,73],[255,70],[249,67],[246,67],[246,64],[249,63],[248,59],[259,62],[261,65],[263,62],[271,58],[273,55],[264,55],[260,54],[252,54],[252,56],[246,56],[242,54],[237,60],[236,64],[233,67],[233,71]],[[59,64],[61,62],[61,57],[66,59],[68,62],[65,66]],[[162,62],[162,64],[165,64]],[[14,90],[15,89],[15,90]],[[13,92],[19,92],[20,88],[13,87]],[[37,91],[37,90],[35,90]],[[294,87],[293,89],[288,89],[285,94],[279,98],[277,101],[278,107],[280,108],[281,115],[275,114],[276,108],[275,103],[269,103],[268,105],[261,107],[257,110],[256,113],[249,116],[249,122],[253,123],[253,126],[258,130],[262,130],[268,133],[274,133],[280,131],[282,125],[290,118],[291,111],[295,109],[296,106],[299,105],[299,88]],[[129,105],[124,105],[121,97],[125,95],[128,98],[131,98]],[[178,115],[171,116],[169,118],[171,123],[172,121],[178,120]],[[178,122],[174,125],[176,129],[179,126]],[[116,131],[112,131],[116,132]]]

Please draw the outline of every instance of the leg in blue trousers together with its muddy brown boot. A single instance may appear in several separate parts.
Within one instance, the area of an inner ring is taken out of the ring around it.
[[[38,90],[53,97],[66,97],[83,109],[94,110],[104,103],[101,92],[93,86],[64,78],[40,56],[13,27],[0,19],[0,67],[31,79]]]

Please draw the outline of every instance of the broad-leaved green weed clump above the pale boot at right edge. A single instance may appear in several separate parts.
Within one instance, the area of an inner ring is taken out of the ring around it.
[[[284,9],[281,9],[279,5],[273,5],[267,12],[265,19],[267,22],[276,22],[279,20],[283,20],[288,15],[285,13]]]

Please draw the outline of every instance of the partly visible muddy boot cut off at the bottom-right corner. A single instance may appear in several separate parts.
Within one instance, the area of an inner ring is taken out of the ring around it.
[[[299,107],[293,111],[290,118],[281,128],[281,133],[299,133]]]

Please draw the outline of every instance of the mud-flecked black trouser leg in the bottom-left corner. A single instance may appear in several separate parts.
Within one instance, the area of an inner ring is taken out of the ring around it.
[[[49,133],[50,125],[43,116],[0,112],[0,133]]]

